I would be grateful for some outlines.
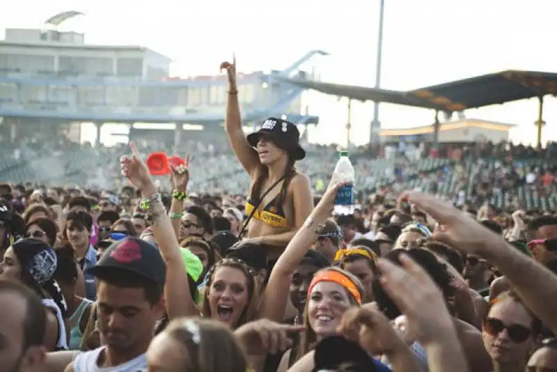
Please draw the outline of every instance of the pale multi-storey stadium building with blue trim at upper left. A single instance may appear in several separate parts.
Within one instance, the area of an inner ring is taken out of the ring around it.
[[[255,126],[283,115],[295,123],[317,123],[315,116],[301,114],[304,88],[274,79],[305,79],[299,67],[315,54],[323,52],[308,52],[270,74],[238,73],[244,123]],[[10,138],[29,132],[29,126],[36,131],[37,123],[48,132],[93,122],[97,134],[103,123],[176,123],[179,142],[183,124],[222,125],[225,76],[171,77],[170,64],[168,56],[146,47],[88,45],[81,33],[7,29],[0,41],[0,117]]]

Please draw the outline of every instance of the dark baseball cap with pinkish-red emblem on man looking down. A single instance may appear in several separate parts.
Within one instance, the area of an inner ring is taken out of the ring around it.
[[[94,277],[118,271],[132,272],[162,285],[166,279],[166,265],[159,250],[149,242],[134,237],[114,242],[97,265],[86,270]]]

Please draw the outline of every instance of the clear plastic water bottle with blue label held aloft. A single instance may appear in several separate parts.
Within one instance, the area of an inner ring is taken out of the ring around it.
[[[334,213],[352,215],[354,213],[354,180],[356,173],[348,158],[348,151],[340,151],[340,159],[333,171],[333,183],[345,183],[336,193]]]

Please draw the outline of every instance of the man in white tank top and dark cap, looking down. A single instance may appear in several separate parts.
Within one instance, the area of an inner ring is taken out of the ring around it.
[[[166,267],[148,242],[115,242],[88,272],[97,279],[97,316],[102,347],[77,355],[65,371],[138,372],[155,323],[164,314]]]

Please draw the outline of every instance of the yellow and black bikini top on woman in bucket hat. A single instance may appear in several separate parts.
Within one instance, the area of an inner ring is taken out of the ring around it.
[[[249,196],[249,199],[246,201],[246,207],[245,207],[246,215],[249,216],[253,212],[252,218],[265,222],[265,224],[268,224],[269,226],[273,226],[273,227],[288,226],[288,223],[286,222],[286,214],[283,208],[283,201],[285,198],[286,189],[288,188],[288,183],[286,182],[285,177],[281,178],[281,180],[279,180],[277,183],[269,187],[267,192],[263,194],[260,200],[262,201],[262,199],[265,199],[265,195],[268,192],[270,192],[272,189],[274,189],[274,187],[276,187],[276,185],[278,185],[278,183],[280,183],[281,181],[285,181],[281,186],[281,191],[278,192],[278,194],[274,197],[274,199],[272,201],[269,201],[269,203],[267,203],[267,205],[263,208],[260,207],[260,203],[254,202],[254,200],[257,199],[253,196],[253,189],[252,189],[251,195]],[[255,211],[253,210],[254,208],[256,208]]]

